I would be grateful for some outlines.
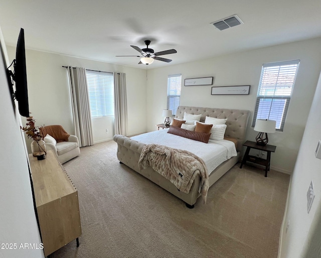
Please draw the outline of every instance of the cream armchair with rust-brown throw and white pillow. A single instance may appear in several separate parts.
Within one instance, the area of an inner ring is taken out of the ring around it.
[[[53,150],[61,163],[80,155],[78,138],[69,135],[61,125],[42,126],[39,130],[47,150]]]

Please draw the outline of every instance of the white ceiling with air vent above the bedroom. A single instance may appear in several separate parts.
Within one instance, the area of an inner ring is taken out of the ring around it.
[[[220,31],[212,22],[238,15],[244,24]],[[7,45],[25,29],[26,48],[139,68],[151,40],[149,69],[321,36],[321,0],[0,0]],[[66,65],[66,64],[64,64]],[[68,65],[68,64],[67,64]]]

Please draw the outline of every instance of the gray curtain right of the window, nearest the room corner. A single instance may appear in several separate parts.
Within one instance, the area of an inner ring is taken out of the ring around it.
[[[115,135],[127,136],[126,74],[114,72]]]

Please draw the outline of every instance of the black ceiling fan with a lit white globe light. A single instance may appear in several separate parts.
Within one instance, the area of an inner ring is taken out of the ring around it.
[[[138,64],[148,65],[148,64],[151,64],[154,60],[169,63],[169,62],[172,62],[172,59],[167,59],[159,56],[177,53],[175,49],[169,49],[169,50],[154,53],[153,49],[148,48],[150,44],[150,40],[145,40],[144,42],[145,42],[146,48],[143,48],[143,49],[140,49],[136,46],[131,46],[133,49],[137,50],[141,54],[141,56],[135,56],[135,57],[141,57]]]

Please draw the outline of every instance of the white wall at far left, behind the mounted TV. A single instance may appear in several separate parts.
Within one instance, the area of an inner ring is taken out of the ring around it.
[[[5,74],[3,55],[6,56],[0,29],[0,257],[44,257],[42,249],[24,249],[21,244],[40,247],[34,203],[29,178],[27,151],[20,130],[20,115],[15,116]],[[10,63],[9,63],[10,64]],[[17,112],[17,111],[16,111]],[[17,112],[19,114],[19,112]],[[12,249],[6,249],[10,244]],[[16,243],[16,246],[14,245]],[[16,248],[15,248],[16,247]]]

